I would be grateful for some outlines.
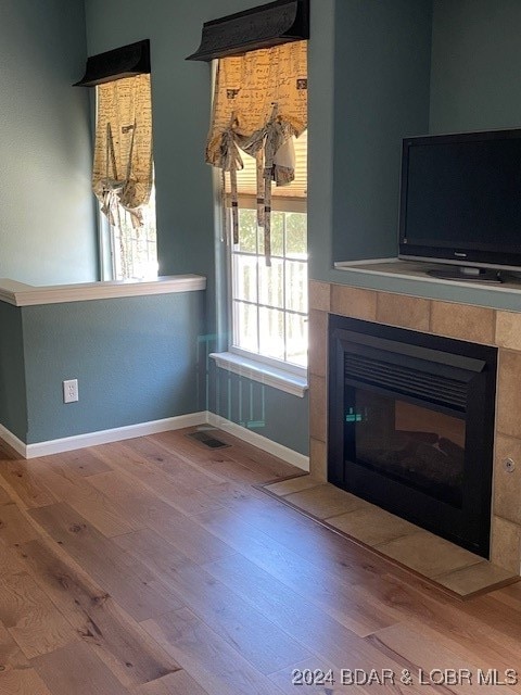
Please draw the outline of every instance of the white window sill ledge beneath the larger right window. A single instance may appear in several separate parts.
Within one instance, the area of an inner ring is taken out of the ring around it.
[[[258,381],[267,387],[285,391],[285,393],[297,395],[301,399],[307,391],[307,379],[291,371],[271,367],[231,352],[214,352],[209,356],[221,369]]]

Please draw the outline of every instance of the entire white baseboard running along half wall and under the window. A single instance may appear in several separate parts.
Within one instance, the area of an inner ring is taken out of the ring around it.
[[[266,437],[252,432],[252,430],[241,427],[231,420],[227,420],[219,415],[215,415],[215,413],[209,413],[208,410],[180,415],[178,417],[168,417],[151,422],[139,422],[138,425],[129,425],[127,427],[116,427],[99,432],[87,432],[86,434],[76,434],[75,437],[64,437],[63,439],[53,439],[47,442],[37,442],[36,444],[24,444],[17,437],[0,425],[0,439],[3,439],[3,441],[14,448],[23,458],[37,458],[38,456],[50,456],[51,454],[74,451],[75,448],[109,444],[110,442],[120,442],[126,439],[147,437],[148,434],[167,432],[168,430],[180,430],[185,427],[195,427],[198,425],[218,427],[243,442],[257,446],[268,452],[268,454],[278,456],[285,463],[292,464],[302,470],[309,471],[308,456],[304,456],[304,454],[300,454],[292,448],[288,448],[288,446],[283,446]]]

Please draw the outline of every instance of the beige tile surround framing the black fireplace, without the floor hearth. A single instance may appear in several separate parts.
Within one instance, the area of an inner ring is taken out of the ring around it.
[[[312,475],[322,481],[328,475],[328,333],[331,316],[498,349],[490,559],[519,576],[521,312],[315,280],[309,285],[309,462]],[[508,465],[508,459],[517,465]]]

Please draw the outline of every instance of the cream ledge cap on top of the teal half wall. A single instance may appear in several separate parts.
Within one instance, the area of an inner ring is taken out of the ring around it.
[[[205,289],[206,278],[201,275],[168,275],[154,280],[111,280],[43,287],[0,279],[0,301],[14,306],[37,306],[122,296],[194,292]]]

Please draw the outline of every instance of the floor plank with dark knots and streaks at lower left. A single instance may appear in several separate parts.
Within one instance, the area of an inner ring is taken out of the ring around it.
[[[23,561],[98,657],[127,686],[162,679],[179,666],[100,586],[64,563],[49,544],[25,543]]]

